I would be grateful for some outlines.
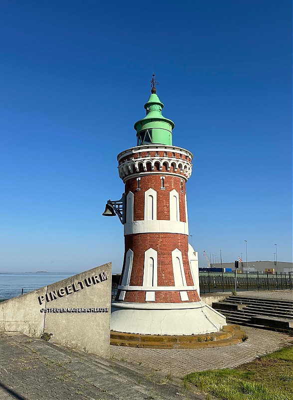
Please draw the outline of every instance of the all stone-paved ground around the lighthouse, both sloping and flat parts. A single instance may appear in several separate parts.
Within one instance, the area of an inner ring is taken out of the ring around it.
[[[272,299],[292,298],[292,292],[285,290],[246,293]],[[203,400],[205,396],[200,392],[184,391],[179,377],[192,371],[235,367],[293,343],[293,336],[286,333],[243,329],[248,340],[232,346],[202,349],[110,346],[108,359],[19,332],[0,332],[0,400]]]

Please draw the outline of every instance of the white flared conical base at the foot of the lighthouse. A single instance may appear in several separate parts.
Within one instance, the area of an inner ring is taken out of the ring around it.
[[[127,303],[114,301],[111,330],[140,334],[202,334],[218,332],[226,317],[204,301],[192,303]]]

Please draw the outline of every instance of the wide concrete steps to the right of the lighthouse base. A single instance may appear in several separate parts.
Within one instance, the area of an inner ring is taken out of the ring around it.
[[[229,323],[293,332],[293,300],[229,296],[212,306]]]

